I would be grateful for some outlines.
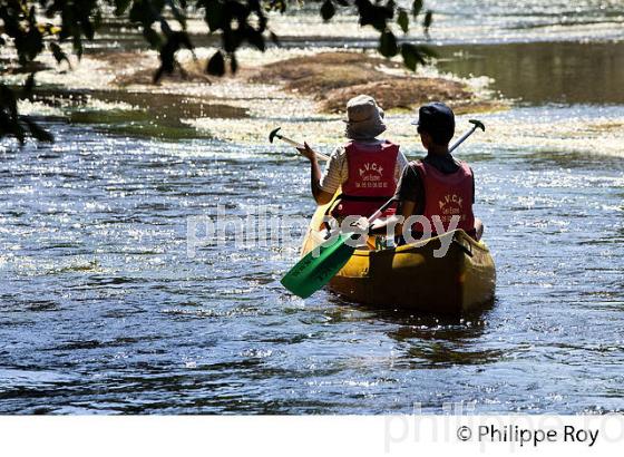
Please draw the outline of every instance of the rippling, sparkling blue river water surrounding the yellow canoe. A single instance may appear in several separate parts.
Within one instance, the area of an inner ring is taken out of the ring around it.
[[[448,14],[457,3],[438,2]],[[50,121],[53,145],[3,143],[0,412],[623,411],[624,97],[615,82],[595,87],[587,70],[621,79],[608,62],[622,61],[622,45],[602,35],[621,3],[583,3],[599,33],[558,67],[583,21],[562,31],[567,7],[533,1],[529,26],[547,22],[567,43],[528,31],[519,43],[509,30],[534,28],[509,28],[503,3],[484,3],[498,40],[437,45],[443,70],[491,77],[516,99],[480,116],[488,130],[457,153],[475,169],[497,264],[491,309],[447,321],[325,291],[293,298],[279,280],[296,259],[296,233],[260,233],[247,245],[228,237],[192,256],[188,218],[214,218],[220,205],[243,221],[266,205],[309,217],[302,162],[260,142],[119,134],[115,117],[110,128]],[[498,59],[542,64],[527,84]],[[560,82],[550,90],[544,68]]]

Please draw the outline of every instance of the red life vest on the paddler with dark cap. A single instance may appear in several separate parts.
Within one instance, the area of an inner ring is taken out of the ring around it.
[[[422,215],[431,224],[432,235],[436,235],[433,216],[440,217],[445,231],[448,231],[451,217],[459,216],[457,229],[466,233],[475,234],[475,214],[472,213],[472,171],[465,163],[460,164],[457,172],[443,174],[435,166],[423,162],[417,162],[416,168],[422,178],[425,187],[425,207]],[[440,223],[438,222],[438,225]],[[412,226],[415,232],[422,232],[422,224]]]

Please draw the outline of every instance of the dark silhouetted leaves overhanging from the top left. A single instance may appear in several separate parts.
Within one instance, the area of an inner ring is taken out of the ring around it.
[[[322,0],[311,3],[318,4],[325,21],[339,10],[354,10],[360,26],[372,27],[379,32],[378,49],[382,56],[401,55],[404,65],[411,69],[425,62],[426,48],[400,42],[396,36],[399,30],[407,33],[410,22],[420,16],[419,23],[425,35],[428,33],[432,12],[422,10],[422,0],[412,0],[409,9],[394,0]],[[220,49],[207,60],[205,71],[222,76],[226,67],[236,72],[236,51],[241,47],[264,51],[267,40],[279,45],[279,37],[270,28],[269,12],[284,13],[287,7],[287,0],[3,0],[0,3],[0,54],[6,49],[14,51],[22,69],[32,68],[42,52],[51,52],[59,65],[70,65],[66,45],[70,45],[80,58],[84,40],[94,40],[107,18],[117,17],[128,27],[138,28],[147,45],[158,51],[159,66],[153,75],[157,81],[181,68],[177,51],[194,51],[187,20],[198,16],[204,19],[206,35],[220,39]],[[18,100],[30,98],[33,87],[35,71],[23,90],[0,85],[0,137],[13,136],[20,143],[27,135],[40,140],[51,139],[33,119],[18,111]]]

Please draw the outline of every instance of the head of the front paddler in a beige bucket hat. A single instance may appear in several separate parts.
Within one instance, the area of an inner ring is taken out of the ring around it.
[[[383,109],[368,95],[359,95],[347,103],[344,123],[344,136],[349,139],[374,138],[387,128],[383,124]]]

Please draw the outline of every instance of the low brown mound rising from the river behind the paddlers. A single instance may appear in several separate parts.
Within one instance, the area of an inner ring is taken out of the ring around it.
[[[477,94],[466,80],[436,76],[435,72],[433,76],[411,74],[406,71],[400,62],[382,59],[370,52],[291,54],[286,59],[265,65],[244,64],[236,77],[212,81],[206,81],[198,62],[193,59],[183,60],[181,65],[184,72],[166,78],[158,89],[154,89],[150,80],[150,69],[155,64],[153,57],[139,57],[133,52],[107,52],[92,57],[104,62],[107,71],[113,71],[110,90],[125,93],[119,99],[134,106],[152,111],[156,108],[166,109],[158,100],[170,101],[172,97],[187,98],[192,104],[201,100],[207,104],[201,113],[187,113],[184,117],[188,119],[243,118],[246,117],[244,109],[253,110],[257,103],[264,103],[269,110],[279,109],[272,107],[274,100],[271,97],[260,101],[256,95],[252,95],[264,93],[261,87],[267,84],[275,86],[277,90],[285,90],[293,103],[305,100],[306,105],[320,115],[343,113],[347,101],[359,94],[369,94],[376,97],[386,110],[394,111],[411,111],[431,100],[449,103],[457,114],[495,110],[503,106],[500,100]],[[133,68],[131,64],[139,60],[142,65]],[[241,97],[232,97],[232,89],[228,87],[234,81],[238,87],[236,91],[243,91],[247,96],[241,93]],[[199,89],[202,86],[204,88]],[[154,90],[157,90],[157,97],[150,96],[149,91]],[[135,96],[130,100],[128,96],[133,94]],[[99,97],[101,95],[98,95]],[[313,103],[309,104],[310,100]],[[177,114],[175,105],[170,108],[174,117]],[[226,109],[227,106],[232,109]]]

